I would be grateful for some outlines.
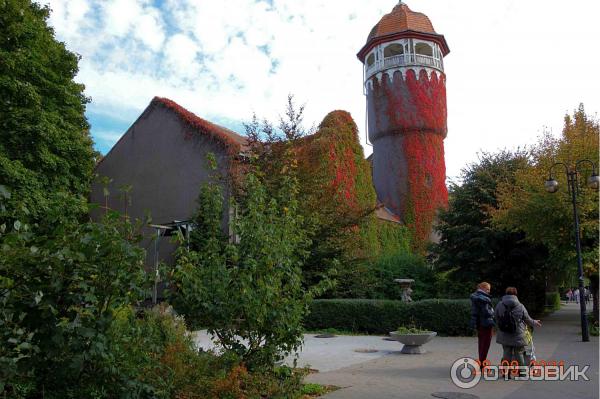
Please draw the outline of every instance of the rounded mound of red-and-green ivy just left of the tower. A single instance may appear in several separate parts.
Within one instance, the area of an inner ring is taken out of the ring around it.
[[[326,238],[339,250],[344,272],[352,264],[360,269],[361,261],[379,256],[388,244],[395,249],[405,239],[400,225],[380,221],[373,213],[377,196],[371,167],[348,112],[327,114],[318,131],[300,141],[297,149],[307,213],[316,215],[321,231],[330,231]],[[389,243],[384,236],[391,236]],[[360,270],[354,274],[347,277],[360,279]]]

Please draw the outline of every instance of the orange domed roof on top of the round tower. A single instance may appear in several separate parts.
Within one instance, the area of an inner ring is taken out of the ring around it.
[[[389,14],[384,15],[371,29],[367,42],[380,36],[413,30],[423,33],[436,33],[427,15],[414,12],[405,3],[398,3]]]

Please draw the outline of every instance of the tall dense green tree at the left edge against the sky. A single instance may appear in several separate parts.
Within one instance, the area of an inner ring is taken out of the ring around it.
[[[54,38],[49,8],[0,2],[0,182],[8,217],[39,218],[58,191],[85,196],[95,153],[79,56]]]

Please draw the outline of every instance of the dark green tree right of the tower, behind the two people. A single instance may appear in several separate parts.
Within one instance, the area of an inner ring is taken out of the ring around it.
[[[499,206],[498,186],[514,184],[515,173],[527,165],[525,152],[502,151],[484,153],[478,163],[463,169],[462,184],[450,186],[449,208],[440,215],[441,239],[434,253],[437,269],[448,273],[451,284],[472,290],[477,282],[488,281],[495,295],[503,294],[507,285],[516,286],[535,310],[544,304],[547,250],[525,241],[522,231],[492,223]]]

